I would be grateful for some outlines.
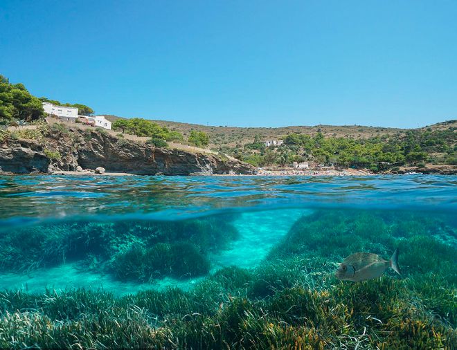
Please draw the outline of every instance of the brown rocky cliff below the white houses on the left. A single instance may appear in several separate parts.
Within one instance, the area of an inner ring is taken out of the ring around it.
[[[213,154],[166,149],[108,133],[58,127],[42,128],[37,139],[0,142],[0,171],[17,174],[75,171],[104,167],[107,172],[139,175],[253,174],[254,168]]]

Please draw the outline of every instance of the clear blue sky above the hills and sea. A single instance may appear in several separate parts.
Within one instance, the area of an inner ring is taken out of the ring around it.
[[[0,74],[98,114],[418,127],[457,118],[457,1],[0,0]]]

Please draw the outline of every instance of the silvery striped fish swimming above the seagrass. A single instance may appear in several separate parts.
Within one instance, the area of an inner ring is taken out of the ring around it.
[[[340,264],[335,277],[343,281],[360,282],[381,277],[388,268],[393,268],[396,273],[402,275],[398,266],[398,248],[390,260],[384,260],[371,252],[351,254]]]

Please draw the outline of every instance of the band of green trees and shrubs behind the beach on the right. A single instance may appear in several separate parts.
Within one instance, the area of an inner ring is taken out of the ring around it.
[[[372,138],[328,137],[290,133],[284,144],[267,147],[260,136],[247,145],[222,147],[227,154],[255,166],[308,161],[322,165],[366,167],[375,172],[400,165],[457,165],[457,128],[409,130]]]

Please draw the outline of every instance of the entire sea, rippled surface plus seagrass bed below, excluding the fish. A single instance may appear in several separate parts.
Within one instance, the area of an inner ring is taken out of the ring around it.
[[[0,177],[0,348],[457,349],[456,185]]]

